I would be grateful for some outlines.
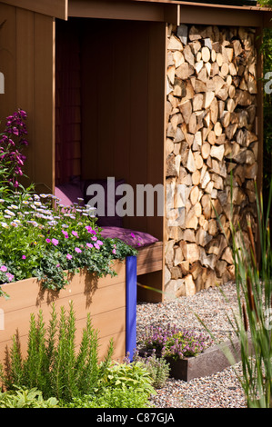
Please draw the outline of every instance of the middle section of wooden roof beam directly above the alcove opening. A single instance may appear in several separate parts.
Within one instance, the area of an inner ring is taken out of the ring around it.
[[[68,15],[86,18],[165,22],[164,5],[124,0],[69,0]]]

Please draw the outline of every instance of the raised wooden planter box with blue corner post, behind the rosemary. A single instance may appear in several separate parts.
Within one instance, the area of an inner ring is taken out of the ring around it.
[[[71,301],[76,312],[76,345],[80,343],[82,330],[86,327],[87,313],[91,313],[93,326],[98,330],[100,358],[106,353],[110,338],[113,338],[113,358],[121,361],[129,350],[127,346],[134,345],[136,340],[136,301],[135,298],[132,299],[136,289],[134,258],[128,257],[126,263],[116,262],[114,269],[117,275],[114,277],[108,275],[97,279],[94,274],[84,271],[76,273],[65,289],[58,293],[45,290],[34,278],[3,285],[2,289],[10,298],[0,299],[0,361],[4,361],[5,348],[10,346],[16,332],[19,334],[22,353],[25,353],[31,313],[37,314],[42,309],[46,322],[51,317],[53,302],[59,313],[61,306],[68,311]],[[132,268],[130,259],[133,262]],[[130,265],[128,272],[127,264]],[[127,334],[130,340],[128,343]]]

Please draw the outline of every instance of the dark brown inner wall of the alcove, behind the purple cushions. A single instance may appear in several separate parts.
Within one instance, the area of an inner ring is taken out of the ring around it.
[[[166,25],[86,20],[82,37],[82,173],[164,184]],[[126,226],[163,238],[163,218]]]

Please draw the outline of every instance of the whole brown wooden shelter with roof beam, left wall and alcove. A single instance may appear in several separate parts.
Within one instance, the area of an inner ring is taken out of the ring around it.
[[[28,113],[25,173],[39,192],[54,192],[55,183],[63,179],[58,171],[63,158],[59,125],[69,114],[76,117],[73,174],[124,178],[133,188],[165,185],[168,25],[245,25],[261,35],[271,18],[265,8],[172,0],[2,0],[0,13],[0,72],[5,76],[1,120],[18,107]],[[70,54],[66,60],[76,57],[79,65],[73,70],[76,104],[66,111],[57,85],[61,45]],[[257,103],[260,183],[261,88]],[[65,130],[72,134],[70,126]],[[156,251],[164,254],[164,217],[127,217],[124,226],[156,236],[161,242]],[[141,273],[146,274],[138,282],[160,292],[139,288],[139,298],[160,301],[164,260],[158,266],[156,253],[146,252],[142,258],[151,257],[152,263],[145,265]],[[159,270],[150,273],[150,268]]]

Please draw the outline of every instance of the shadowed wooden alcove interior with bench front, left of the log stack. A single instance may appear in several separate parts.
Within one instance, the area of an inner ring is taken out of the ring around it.
[[[156,200],[155,216],[136,216],[136,185],[164,185],[166,25],[56,20],[55,40],[55,181],[115,177],[133,187],[135,215],[123,225],[159,240],[139,256],[138,273],[161,289],[164,218]]]

